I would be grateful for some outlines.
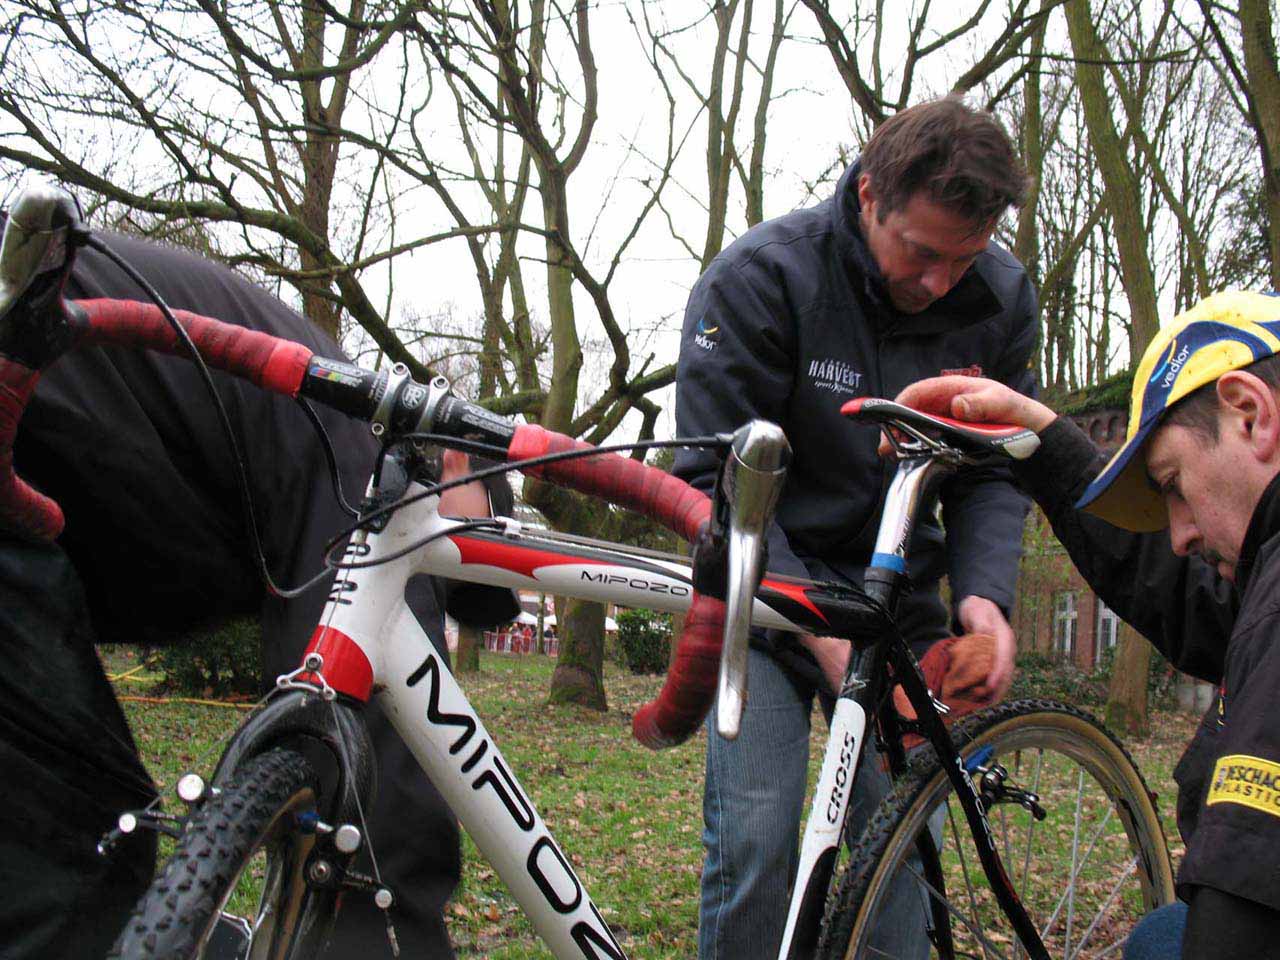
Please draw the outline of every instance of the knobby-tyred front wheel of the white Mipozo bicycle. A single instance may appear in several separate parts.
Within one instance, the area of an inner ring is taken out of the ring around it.
[[[250,759],[196,809],[110,956],[315,956],[335,901],[303,877],[316,794],[302,755],[270,750]]]

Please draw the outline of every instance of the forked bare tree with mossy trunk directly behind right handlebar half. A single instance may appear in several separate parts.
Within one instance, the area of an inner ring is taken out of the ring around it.
[[[637,370],[632,369],[627,332],[618,320],[609,288],[627,247],[669,182],[676,154],[673,108],[668,111],[667,157],[643,182],[644,198],[634,211],[631,227],[604,270],[595,271],[580,246],[581,233],[575,229],[571,204],[573,175],[591,146],[599,110],[591,8],[586,3],[562,9],[545,0],[531,0],[527,5],[494,0],[447,5],[430,17],[430,27],[420,26],[417,38],[448,78],[460,111],[495,131],[499,142],[509,133],[520,143],[521,164],[527,164],[526,169],[531,168],[536,175],[543,227],[534,232],[541,243],[550,353],[548,376],[541,383],[543,398],[527,415],[549,429],[599,443],[628,412],[636,411],[641,419],[640,436],[653,436],[658,407],[646,394],[669,384],[675,369],[667,365],[652,370],[652,356]],[[568,51],[563,61],[552,56],[552,45]],[[499,214],[509,212],[518,202],[518,179],[513,189],[515,195],[490,193],[490,204],[500,207]],[[480,259],[476,260],[477,273],[483,274]],[[517,291],[524,280],[515,252],[507,248],[506,255],[499,253],[499,264],[495,275]],[[581,291],[590,303],[591,320],[603,328],[609,355],[604,389],[584,410],[579,410],[579,401],[585,321],[575,291]],[[497,306],[497,297],[493,300]],[[536,364],[520,356],[524,346],[520,338],[504,346],[516,351],[517,375],[518,369],[535,369]],[[584,503],[545,484],[526,483],[525,495],[563,530],[609,534],[626,522],[616,511]],[[564,604],[558,620],[561,653],[552,678],[553,700],[605,707],[603,626],[604,611],[599,604]]]

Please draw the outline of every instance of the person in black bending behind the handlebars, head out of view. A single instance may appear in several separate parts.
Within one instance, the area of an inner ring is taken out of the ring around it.
[[[173,307],[340,356],[314,325],[224,268],[134,238],[108,241]],[[68,296],[145,300],[92,251],[81,252]],[[297,404],[214,378],[248,465],[268,568],[278,584],[297,585],[320,570],[324,543],[351,522],[334,499],[321,444]],[[376,444],[366,426],[319,413],[346,497],[358,503]],[[265,595],[230,453],[184,360],[123,348],[68,355],[41,378],[15,462],[63,506],[67,527],[58,544],[0,539],[0,625],[13,667],[0,678],[0,765],[10,785],[0,890],[22,891],[0,904],[0,954],[92,957],[110,946],[154,863],[150,838],[110,861],[95,851],[115,817],[143,806],[154,787],[92,644],[172,641],[260,616],[270,684],[297,666],[328,591],[320,584],[292,602]],[[504,483],[490,495],[509,512]],[[406,598],[442,653],[445,609],[476,623],[518,609],[508,590],[428,577],[412,580]],[[397,936],[413,956],[449,957],[443,906],[461,870],[457,824],[376,708],[369,722],[379,760],[371,845],[397,895]],[[346,897],[329,956],[390,956],[370,897]]]

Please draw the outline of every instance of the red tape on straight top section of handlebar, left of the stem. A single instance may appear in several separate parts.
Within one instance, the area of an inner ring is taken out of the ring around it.
[[[116,344],[186,356],[178,334],[154,303],[128,300],[82,300],[88,330],[81,343]],[[269,333],[224,324],[186,310],[174,310],[209,366],[242,376],[259,387],[297,397],[312,351]]]

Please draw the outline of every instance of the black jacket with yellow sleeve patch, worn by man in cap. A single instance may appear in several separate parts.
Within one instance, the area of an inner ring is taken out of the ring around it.
[[[1187,855],[1179,895],[1192,904],[1183,956],[1275,956],[1240,937],[1280,922],[1280,476],[1254,509],[1235,585],[1169,532],[1130,534],[1074,504],[1102,458],[1066,419],[1015,467],[1085,581],[1180,669],[1219,684],[1174,771]],[[1158,598],[1153,602],[1152,598]],[[1248,941],[1253,943],[1253,940]]]

